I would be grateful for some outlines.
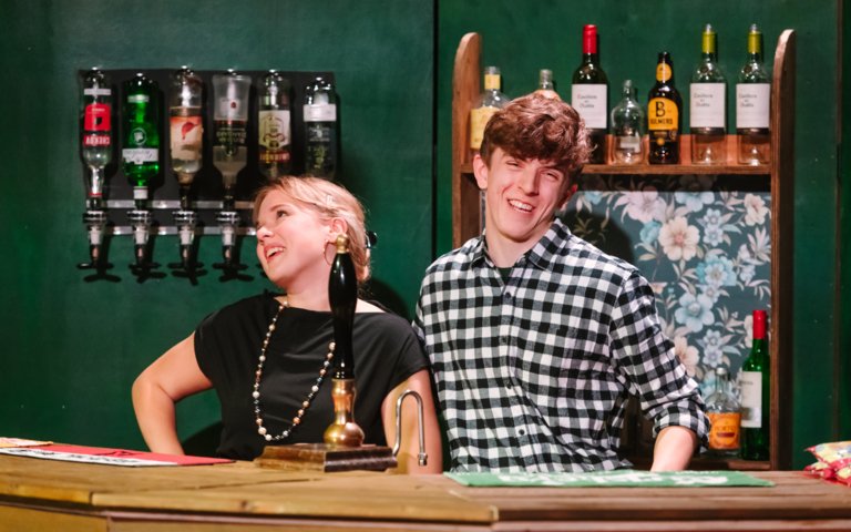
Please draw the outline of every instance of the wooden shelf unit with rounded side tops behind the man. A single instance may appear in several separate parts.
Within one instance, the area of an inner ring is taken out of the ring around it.
[[[480,191],[472,175],[470,109],[481,93],[481,37],[466,33],[455,52],[452,75],[452,245],[481,234]],[[587,165],[586,174],[604,175],[755,175],[769,177],[771,191],[771,452],[768,462],[726,461],[736,469],[789,469],[792,416],[792,249],[794,194],[794,30],[783,30],[775,49],[771,80],[771,161],[765,166],[690,164],[689,135],[683,135],[678,165]],[[735,146],[735,135],[727,143]],[[735,153],[728,150],[728,154]],[[730,155],[728,155],[729,157]],[[718,461],[712,461],[717,466]],[[750,467],[749,467],[750,466]]]

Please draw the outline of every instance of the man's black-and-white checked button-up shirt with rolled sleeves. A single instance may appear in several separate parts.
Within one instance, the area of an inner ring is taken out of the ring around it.
[[[617,457],[629,393],[654,433],[706,439],[697,383],[637,269],[555,221],[503,283],[483,237],[432,264],[414,328],[431,358],[453,471],[591,471]]]

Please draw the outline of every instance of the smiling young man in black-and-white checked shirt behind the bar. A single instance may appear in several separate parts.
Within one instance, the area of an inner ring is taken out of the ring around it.
[[[454,471],[628,467],[628,395],[654,420],[653,469],[685,469],[708,421],[637,269],[555,217],[588,157],[570,105],[514,100],[473,172],[485,231],[432,264],[414,327],[431,358]]]

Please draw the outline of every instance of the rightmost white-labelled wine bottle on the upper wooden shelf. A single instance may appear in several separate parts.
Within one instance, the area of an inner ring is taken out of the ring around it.
[[[762,64],[762,32],[757,24],[748,32],[748,59],[736,84],[736,133],[740,164],[768,164],[771,82]]]

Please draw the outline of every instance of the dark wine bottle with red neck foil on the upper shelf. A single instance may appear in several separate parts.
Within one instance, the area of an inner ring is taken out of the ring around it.
[[[597,57],[597,27],[582,30],[582,63],[573,73],[571,105],[585,121],[593,146],[592,164],[606,162],[606,119],[608,117],[608,79]]]

